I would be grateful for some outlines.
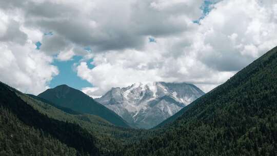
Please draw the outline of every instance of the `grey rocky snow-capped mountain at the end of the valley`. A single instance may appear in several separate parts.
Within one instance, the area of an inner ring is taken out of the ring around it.
[[[187,83],[135,83],[95,99],[140,128],[152,128],[205,94]]]

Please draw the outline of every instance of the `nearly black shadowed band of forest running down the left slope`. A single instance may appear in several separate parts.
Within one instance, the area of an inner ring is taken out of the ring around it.
[[[17,96],[14,90],[15,89],[12,89],[11,87],[0,82],[0,106],[3,107],[4,110],[6,109],[7,111],[14,114],[16,118],[25,125],[24,127],[33,127],[36,131],[40,130],[42,131],[41,133],[44,133],[47,136],[49,135],[55,140],[58,140],[69,147],[75,148],[79,154],[99,154],[98,148],[96,148],[94,144],[95,138],[87,130],[84,130],[76,124],[48,118],[48,116],[38,112],[33,107],[24,102],[20,97]],[[20,130],[24,131],[24,128]],[[18,138],[23,136],[24,134],[18,134]],[[43,141],[43,135],[38,137],[42,137],[41,140]],[[16,143],[16,140],[11,140],[10,142],[10,144]],[[32,144],[41,143],[34,141]],[[31,151],[31,153],[33,152]]]

